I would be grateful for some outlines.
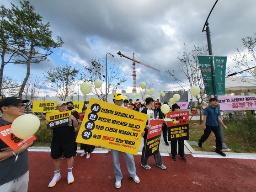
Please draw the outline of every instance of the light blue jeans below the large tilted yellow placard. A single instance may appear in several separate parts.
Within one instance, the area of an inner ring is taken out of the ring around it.
[[[130,177],[136,176],[136,167],[135,167],[133,155],[129,154],[129,153],[124,153],[121,151],[111,149],[116,180],[121,181],[123,178],[123,174],[122,174],[121,168],[120,168],[119,152],[123,153],[123,158],[125,160],[126,167],[127,167]]]

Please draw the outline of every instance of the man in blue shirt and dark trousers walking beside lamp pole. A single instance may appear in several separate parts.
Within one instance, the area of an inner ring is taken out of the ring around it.
[[[199,139],[198,141],[198,146],[202,147],[203,142],[208,139],[208,137],[210,136],[211,132],[213,131],[215,137],[216,137],[216,150],[215,152],[218,153],[219,155],[222,156],[226,156],[226,154],[224,154],[222,152],[222,142],[221,142],[221,137],[220,137],[220,129],[219,129],[219,125],[218,125],[218,121],[219,123],[222,124],[222,126],[224,128],[227,128],[224,123],[222,122],[221,118],[220,118],[220,114],[219,114],[219,109],[216,108],[216,106],[218,105],[218,100],[216,98],[211,98],[209,100],[210,105],[208,107],[206,107],[204,109],[203,112],[203,130],[204,133],[201,137],[201,139]]]

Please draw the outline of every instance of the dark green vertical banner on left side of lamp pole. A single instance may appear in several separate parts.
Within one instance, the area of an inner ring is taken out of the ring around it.
[[[207,95],[214,95],[214,84],[213,84],[213,71],[212,71],[212,56],[197,56],[201,73],[203,76],[203,84]]]

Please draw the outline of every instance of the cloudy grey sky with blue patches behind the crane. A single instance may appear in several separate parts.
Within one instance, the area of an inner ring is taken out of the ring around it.
[[[10,2],[20,5],[19,0]],[[123,70],[128,81],[119,86],[132,92],[132,61],[117,52],[147,63],[160,72],[136,64],[137,84],[145,81],[156,91],[176,91],[180,87],[165,72],[178,69],[177,56],[184,51],[183,43],[207,45],[204,22],[215,0],[31,0],[35,11],[49,22],[53,38],[61,37],[64,45],[41,64],[32,65],[32,73],[41,75],[58,65],[70,64],[80,69],[91,59],[112,62]],[[228,56],[232,65],[236,48],[243,49],[241,38],[256,32],[255,0],[219,0],[208,22],[213,55]],[[26,68],[7,65],[5,75],[18,81]],[[179,72],[177,70],[177,76]],[[182,78],[182,77],[181,77]],[[104,84],[103,84],[104,85]]]

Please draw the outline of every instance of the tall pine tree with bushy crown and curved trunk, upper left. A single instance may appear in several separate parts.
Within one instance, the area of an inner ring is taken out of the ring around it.
[[[5,34],[12,34],[9,39],[15,43],[13,47],[16,50],[15,58],[9,63],[27,65],[27,73],[21,84],[19,97],[22,96],[29,78],[31,64],[44,61],[53,53],[53,48],[59,48],[64,43],[60,37],[57,37],[56,42],[53,40],[49,23],[43,23],[43,17],[34,11],[34,6],[30,5],[29,1],[20,1],[20,3],[21,9],[11,3],[11,9],[7,10],[5,15],[5,24],[8,22],[11,26],[5,28]]]

